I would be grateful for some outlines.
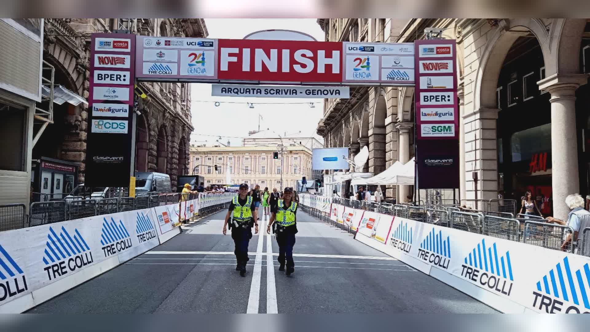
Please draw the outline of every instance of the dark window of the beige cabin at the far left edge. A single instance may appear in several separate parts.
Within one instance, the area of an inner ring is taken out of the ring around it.
[[[11,142],[11,144],[3,144],[0,149],[0,170],[26,171],[25,122],[27,109],[0,100],[0,114],[2,114],[0,141]]]

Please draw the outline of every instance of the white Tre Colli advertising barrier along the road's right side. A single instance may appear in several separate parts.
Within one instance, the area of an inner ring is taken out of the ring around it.
[[[504,313],[590,313],[585,256],[401,217],[385,243],[371,235],[356,239]]]

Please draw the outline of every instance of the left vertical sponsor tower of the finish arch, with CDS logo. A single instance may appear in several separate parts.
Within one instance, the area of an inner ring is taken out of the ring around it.
[[[131,168],[135,36],[92,34],[86,184],[127,187]]]

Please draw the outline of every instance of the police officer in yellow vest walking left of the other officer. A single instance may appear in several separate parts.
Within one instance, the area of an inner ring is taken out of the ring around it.
[[[235,271],[240,271],[241,276],[246,275],[246,262],[250,261],[248,258],[248,243],[252,238],[252,226],[256,226],[255,234],[258,234],[257,211],[253,209],[253,198],[248,196],[248,184],[240,184],[240,191],[238,195],[232,198],[230,203],[230,210],[225,215],[225,223],[223,225],[223,234],[227,232],[227,224],[230,217],[233,218],[230,223],[231,238],[235,243],[235,259],[237,266]]]

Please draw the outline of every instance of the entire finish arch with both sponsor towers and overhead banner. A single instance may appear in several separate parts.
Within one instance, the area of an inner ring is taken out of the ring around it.
[[[213,83],[214,96],[316,99],[346,99],[349,86],[415,86],[418,171],[445,171],[435,187],[458,187],[458,145],[451,144],[458,137],[455,52],[454,40],[350,43],[93,34],[87,178],[94,180],[100,172],[113,180],[117,171],[129,170],[136,80]],[[425,176],[419,177],[420,185],[429,182]],[[122,177],[118,183],[126,181]]]

